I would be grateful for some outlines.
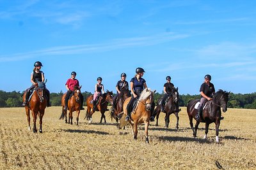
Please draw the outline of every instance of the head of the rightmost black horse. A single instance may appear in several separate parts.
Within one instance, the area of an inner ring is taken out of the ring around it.
[[[216,92],[216,94],[212,98],[214,104],[220,106],[223,112],[227,111],[228,94],[230,94],[230,92],[218,90],[218,92]]]

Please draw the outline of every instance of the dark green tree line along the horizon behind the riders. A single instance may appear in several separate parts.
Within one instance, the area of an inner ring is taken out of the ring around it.
[[[86,106],[86,98],[92,95],[91,92],[82,92],[84,96],[84,104]],[[4,92],[0,90],[0,108],[22,107],[23,92]],[[51,93],[51,105],[61,106],[61,96],[63,92]],[[114,94],[115,95],[115,94]],[[157,102],[162,94],[156,93],[154,101]],[[192,99],[200,99],[200,95],[182,94],[179,96],[179,106],[186,106]],[[245,108],[256,109],[256,92],[251,94],[234,94],[230,92],[228,100],[228,108]]]

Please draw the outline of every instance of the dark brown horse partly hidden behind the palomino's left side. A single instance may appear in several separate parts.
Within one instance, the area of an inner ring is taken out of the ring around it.
[[[118,122],[118,113],[121,113],[123,111],[123,104],[124,101],[128,98],[131,97],[131,91],[130,90],[122,90],[121,93],[118,95],[116,99],[116,108],[114,108],[114,112],[111,112],[111,120],[115,118],[116,123]]]

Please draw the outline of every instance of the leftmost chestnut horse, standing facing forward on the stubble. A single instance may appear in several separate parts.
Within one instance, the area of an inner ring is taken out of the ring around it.
[[[23,94],[23,101],[25,101],[26,93],[28,91],[26,90]],[[44,111],[47,106],[47,98],[46,98],[46,90],[45,90],[45,83],[44,82],[38,82],[35,84],[35,89],[33,90],[33,93],[30,97],[28,106],[25,106],[27,120],[28,120],[28,129],[31,131],[30,127],[30,110],[32,112],[33,117],[33,132],[36,133],[36,117],[38,115],[39,117],[39,132],[42,133],[42,123],[43,123],[43,117],[44,117]]]

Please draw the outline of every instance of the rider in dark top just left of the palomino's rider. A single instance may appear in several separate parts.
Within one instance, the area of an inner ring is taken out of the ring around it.
[[[116,105],[116,98],[119,96],[122,90],[129,90],[128,82],[126,81],[126,74],[121,74],[121,80],[116,83],[116,96],[113,97],[113,106],[111,112],[113,113]]]

